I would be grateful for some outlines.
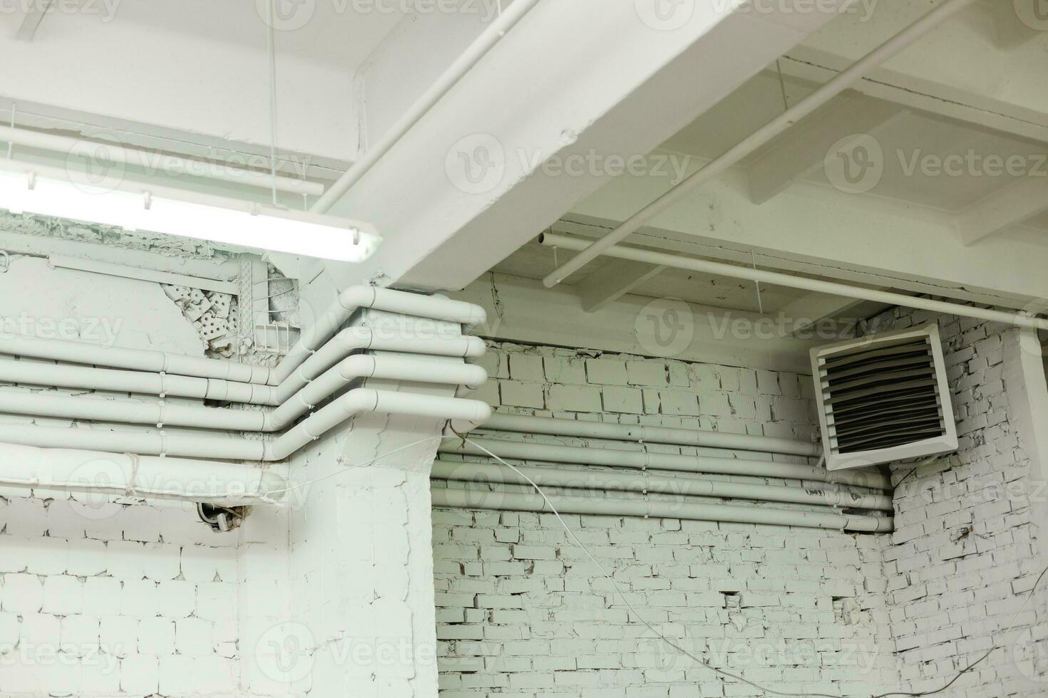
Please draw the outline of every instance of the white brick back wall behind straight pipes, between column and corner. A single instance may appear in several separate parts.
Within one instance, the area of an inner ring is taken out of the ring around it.
[[[814,433],[808,377],[510,344],[493,345],[486,361],[494,380],[481,395],[504,411]],[[868,696],[898,682],[888,537],[567,520],[641,616],[719,667],[785,691]],[[436,510],[434,557],[444,698],[764,695],[725,688],[652,639],[552,516]]]

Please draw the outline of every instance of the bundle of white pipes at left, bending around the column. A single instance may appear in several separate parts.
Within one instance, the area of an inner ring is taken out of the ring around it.
[[[343,329],[362,309],[407,316],[405,327],[409,329]],[[487,379],[486,373],[464,360],[482,356],[483,341],[461,335],[460,328],[454,325],[454,332],[447,333],[419,333],[410,328],[411,320],[417,318],[470,325],[483,322],[484,317],[483,309],[472,303],[351,287],[311,328],[304,330],[288,355],[274,367],[74,341],[0,339],[0,355],[8,357],[0,358],[0,383],[116,391],[133,398],[110,400],[0,389],[0,418],[22,415],[122,425],[113,430],[100,425],[69,428],[9,421],[0,424],[0,486],[111,490],[111,494],[220,505],[271,503],[286,490],[286,482],[263,464],[289,457],[354,415],[385,412],[432,416],[450,421],[456,429],[472,429],[490,416],[490,408],[477,400],[353,387],[368,378],[458,389],[480,386]],[[449,358],[460,359],[461,363]],[[166,398],[271,409],[168,404]],[[169,432],[166,427],[178,429]],[[275,437],[246,440],[216,430]]]

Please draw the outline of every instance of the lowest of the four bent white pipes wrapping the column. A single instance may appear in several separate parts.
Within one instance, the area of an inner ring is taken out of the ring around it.
[[[490,416],[492,408],[478,400],[355,388],[272,442],[227,438],[188,430],[103,431],[12,424],[0,426],[0,443],[191,458],[282,460],[337,424],[365,412],[451,420],[456,430],[463,431]]]

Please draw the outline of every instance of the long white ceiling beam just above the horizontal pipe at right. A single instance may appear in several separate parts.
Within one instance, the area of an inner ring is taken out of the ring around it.
[[[637,177],[616,180],[565,217],[582,229],[564,231],[604,235],[667,186]],[[762,268],[1023,308],[1048,297],[1042,238],[1038,230],[1012,229],[978,248],[965,247],[953,213],[807,181],[755,206],[748,178],[738,170],[694,192],[627,242],[747,265],[752,253]]]

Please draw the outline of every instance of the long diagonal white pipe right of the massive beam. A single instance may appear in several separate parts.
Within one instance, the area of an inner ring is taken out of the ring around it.
[[[584,265],[593,261],[598,254],[607,250],[609,247],[621,242],[627,235],[637,231],[640,226],[672,206],[692,189],[720,176],[728,167],[735,165],[744,157],[754,153],[757,149],[761,148],[772,138],[789,129],[793,123],[844,92],[853,83],[860,80],[865,72],[895,55],[900,50],[927,33],[930,30],[937,27],[952,15],[971,4],[975,0],[946,0],[938,7],[924,15],[924,17],[920,18],[905,29],[864,55],[861,59],[852,64],[851,67],[837,73],[832,80],[809,94],[807,97],[765,123],[745,139],[733,145],[723,155],[720,155],[716,159],[709,161],[701,170],[686,177],[669,192],[631,216],[614,230],[588,245],[581,254],[576,254],[574,257],[564,263],[547,275],[543,279],[543,284],[547,288],[556,286],[570,274],[582,269]],[[330,194],[330,190],[328,194]]]

